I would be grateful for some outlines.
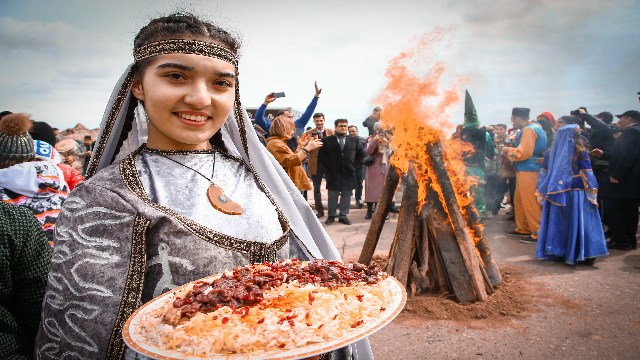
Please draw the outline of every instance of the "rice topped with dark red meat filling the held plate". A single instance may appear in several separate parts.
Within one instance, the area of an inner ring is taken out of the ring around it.
[[[343,339],[392,302],[377,265],[289,260],[246,266],[173,294],[145,318],[148,344],[190,356],[292,349]]]

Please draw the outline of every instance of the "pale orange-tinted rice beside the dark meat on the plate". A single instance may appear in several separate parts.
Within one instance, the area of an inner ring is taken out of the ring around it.
[[[293,349],[346,338],[390,311],[386,306],[392,302],[393,280],[384,273],[378,276],[375,284],[358,282],[333,290],[313,283],[301,285],[297,280],[285,282],[266,290],[256,306],[224,306],[169,325],[163,317],[173,309],[175,299],[187,295],[189,287],[185,287],[169,296],[163,307],[144,315],[143,337],[161,350],[197,357]]]

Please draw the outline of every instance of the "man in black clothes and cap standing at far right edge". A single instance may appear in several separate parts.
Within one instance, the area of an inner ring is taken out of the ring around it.
[[[609,184],[604,187],[604,212],[611,229],[610,249],[636,249],[638,242],[638,204],[640,204],[640,112],[622,115],[618,126],[623,130],[613,149],[594,149],[593,156],[609,160]]]

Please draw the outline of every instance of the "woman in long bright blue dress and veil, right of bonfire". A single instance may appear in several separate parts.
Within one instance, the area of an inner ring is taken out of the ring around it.
[[[608,255],[596,197],[598,183],[580,136],[580,119],[563,116],[551,150],[544,156],[538,196],[542,205],[536,257],[592,265]]]

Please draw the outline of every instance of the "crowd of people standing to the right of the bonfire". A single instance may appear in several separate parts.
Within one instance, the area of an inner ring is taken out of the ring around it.
[[[467,92],[453,137],[474,149],[465,164],[479,179],[471,190],[480,221],[509,202],[516,228],[506,235],[537,244],[540,260],[593,264],[608,249],[636,249],[640,112],[615,117],[582,107],[531,119],[530,109],[514,108],[511,129],[482,127]]]

